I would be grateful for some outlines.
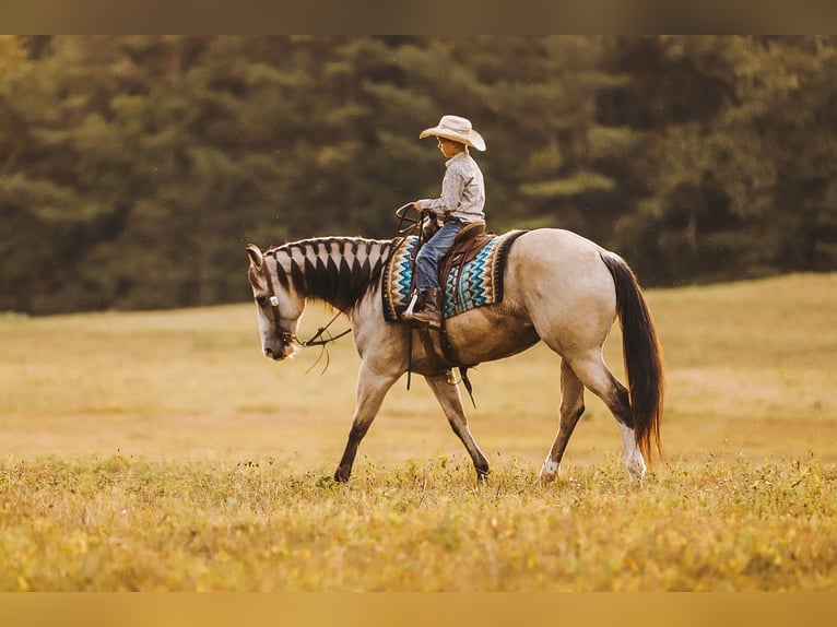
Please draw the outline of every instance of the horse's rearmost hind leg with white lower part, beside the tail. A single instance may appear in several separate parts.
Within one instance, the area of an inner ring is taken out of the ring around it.
[[[576,359],[571,365],[581,382],[604,401],[604,404],[616,418],[628,475],[630,481],[641,482],[646,465],[636,442],[627,389],[604,364],[601,352],[596,352],[583,359]]]

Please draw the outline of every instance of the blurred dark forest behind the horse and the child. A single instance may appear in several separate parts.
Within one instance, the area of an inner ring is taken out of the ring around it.
[[[444,114],[493,230],[646,286],[837,270],[837,37],[2,36],[0,311],[241,301],[249,241],[392,237]]]

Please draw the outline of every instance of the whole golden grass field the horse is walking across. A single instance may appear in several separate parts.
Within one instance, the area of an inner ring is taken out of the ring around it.
[[[538,485],[543,346],[471,375],[487,485],[417,378],[337,485],[347,338],[323,371],[263,358],[249,304],[0,316],[0,590],[837,590],[837,274],[647,296],[667,457],[641,487],[589,394]]]

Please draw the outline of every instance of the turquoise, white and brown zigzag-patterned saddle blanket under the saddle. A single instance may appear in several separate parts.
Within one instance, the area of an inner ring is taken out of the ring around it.
[[[445,286],[445,317],[451,318],[475,307],[503,301],[503,272],[511,244],[524,230],[504,235],[480,236],[474,247],[465,241],[451,249],[439,263],[439,284]],[[410,305],[410,287],[418,238],[408,237],[389,258],[384,269],[384,317],[390,322],[401,319]],[[470,253],[463,253],[463,250]],[[452,261],[452,263],[451,263]]]

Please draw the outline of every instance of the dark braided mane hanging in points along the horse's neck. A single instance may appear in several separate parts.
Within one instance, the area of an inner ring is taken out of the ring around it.
[[[308,298],[319,298],[341,310],[354,307],[378,279],[392,240],[322,237],[270,248],[276,279]]]

